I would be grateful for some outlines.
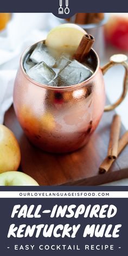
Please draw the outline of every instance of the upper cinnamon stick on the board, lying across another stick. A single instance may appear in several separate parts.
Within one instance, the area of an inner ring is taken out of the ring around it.
[[[117,158],[118,155],[118,143],[119,143],[119,134],[120,134],[120,126],[121,126],[121,119],[118,114],[113,117],[112,125],[111,125],[111,132],[110,132],[110,142],[108,145],[108,158]]]

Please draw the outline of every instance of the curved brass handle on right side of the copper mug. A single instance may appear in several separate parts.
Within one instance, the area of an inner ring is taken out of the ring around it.
[[[127,56],[125,54],[115,54],[110,57],[110,62],[108,62],[103,68],[101,68],[103,75],[108,71],[108,69],[110,69],[115,65],[123,65],[123,67],[125,68],[123,92],[120,98],[116,101],[116,103],[105,106],[104,111],[113,110],[124,100],[126,96],[127,89],[128,89],[128,64],[126,63],[126,60],[127,60]]]

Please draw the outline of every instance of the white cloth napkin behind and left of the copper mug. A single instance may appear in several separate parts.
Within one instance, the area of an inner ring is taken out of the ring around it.
[[[0,123],[12,104],[20,57],[25,48],[46,38],[49,14],[13,14],[0,33]]]

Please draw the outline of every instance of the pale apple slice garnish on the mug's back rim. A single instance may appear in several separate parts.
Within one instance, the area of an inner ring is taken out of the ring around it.
[[[79,25],[66,23],[50,30],[47,39],[47,47],[63,49],[74,53],[79,46],[82,37],[87,34]]]

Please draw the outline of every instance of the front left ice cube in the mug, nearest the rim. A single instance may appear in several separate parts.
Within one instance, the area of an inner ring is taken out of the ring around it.
[[[52,68],[48,67],[43,61],[30,68],[27,74],[41,84],[48,84],[55,78],[56,73]]]

